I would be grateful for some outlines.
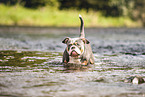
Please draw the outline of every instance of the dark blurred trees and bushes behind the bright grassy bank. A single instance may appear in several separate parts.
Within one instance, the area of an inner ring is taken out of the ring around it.
[[[19,4],[32,9],[47,6],[59,10],[93,10],[101,12],[105,17],[128,16],[134,21],[140,21],[145,27],[145,0],[0,0],[0,3]]]

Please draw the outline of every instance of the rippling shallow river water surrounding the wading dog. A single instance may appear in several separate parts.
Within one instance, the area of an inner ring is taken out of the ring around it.
[[[0,96],[145,96],[145,29],[88,28],[92,66],[63,66],[65,37],[79,28],[0,28]]]

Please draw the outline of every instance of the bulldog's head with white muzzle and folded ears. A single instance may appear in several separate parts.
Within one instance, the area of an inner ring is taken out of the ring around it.
[[[84,53],[85,44],[90,42],[85,38],[65,38],[62,43],[67,44],[67,52],[71,57],[79,57]]]

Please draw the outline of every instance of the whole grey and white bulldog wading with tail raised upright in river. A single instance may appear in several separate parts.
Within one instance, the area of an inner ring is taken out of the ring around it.
[[[65,38],[62,43],[67,47],[63,53],[63,63],[74,63],[89,65],[94,63],[94,56],[90,46],[90,42],[85,38],[84,34],[84,21],[79,15],[81,26],[80,36],[78,38]]]

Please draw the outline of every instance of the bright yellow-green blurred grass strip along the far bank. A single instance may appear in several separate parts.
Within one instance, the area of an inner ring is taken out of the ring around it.
[[[27,9],[22,6],[0,5],[0,25],[76,27],[81,14],[86,27],[141,27],[127,17],[104,17],[100,13],[84,10],[58,10],[45,7]]]

